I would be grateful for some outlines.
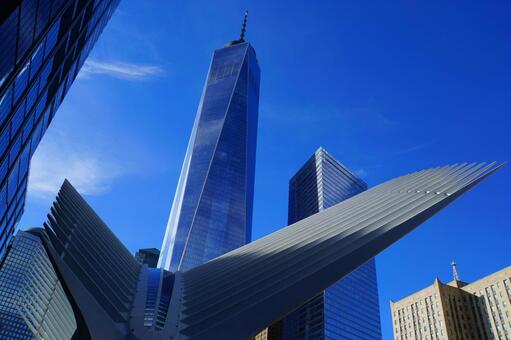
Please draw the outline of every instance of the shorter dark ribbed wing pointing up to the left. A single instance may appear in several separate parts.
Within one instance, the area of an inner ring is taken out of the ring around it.
[[[140,264],[65,180],[44,229],[60,257],[116,322],[126,322]]]

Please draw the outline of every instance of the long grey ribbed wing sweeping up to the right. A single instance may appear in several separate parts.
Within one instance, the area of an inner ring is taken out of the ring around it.
[[[181,339],[247,339],[415,229],[504,164],[390,180],[182,273]]]

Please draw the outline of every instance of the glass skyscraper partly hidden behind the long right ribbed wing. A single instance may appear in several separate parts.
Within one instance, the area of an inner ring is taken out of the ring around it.
[[[289,183],[289,224],[366,189],[361,179],[320,148]],[[285,340],[381,339],[374,259],[288,315],[279,326]]]

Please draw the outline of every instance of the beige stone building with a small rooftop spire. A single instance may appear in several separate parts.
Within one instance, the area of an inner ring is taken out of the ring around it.
[[[391,301],[395,339],[511,339],[511,267],[472,283],[454,273]]]

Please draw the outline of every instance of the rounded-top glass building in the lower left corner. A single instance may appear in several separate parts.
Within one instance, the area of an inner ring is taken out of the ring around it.
[[[0,269],[1,339],[71,339],[73,309],[43,243],[18,231]]]

